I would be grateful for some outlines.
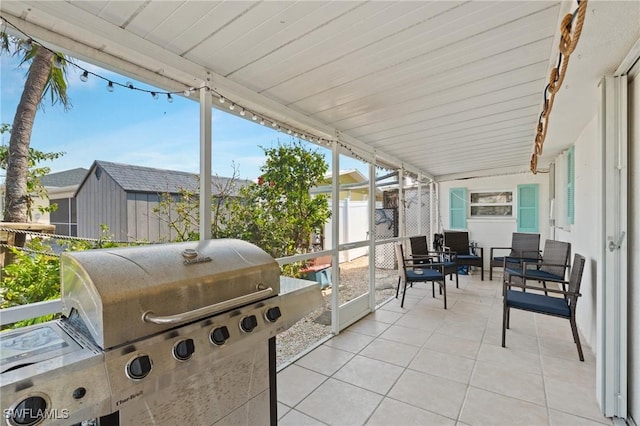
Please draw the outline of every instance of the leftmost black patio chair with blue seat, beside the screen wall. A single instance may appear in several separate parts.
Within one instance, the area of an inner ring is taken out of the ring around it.
[[[402,301],[400,307],[404,307],[404,297],[407,294],[407,284],[413,287],[413,283],[431,282],[432,297],[436,297],[435,283],[440,287],[440,294],[444,299],[444,308],[447,309],[447,288],[445,286],[444,265],[438,262],[418,263],[415,260],[404,257],[402,244],[395,245],[396,259],[398,261],[398,286],[396,288],[396,299],[400,292],[400,283],[404,281],[402,290]],[[421,261],[424,259],[420,259]],[[433,260],[437,260],[435,257]]]

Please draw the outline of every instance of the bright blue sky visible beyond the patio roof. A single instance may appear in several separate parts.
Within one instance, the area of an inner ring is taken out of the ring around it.
[[[81,67],[111,81],[148,90],[159,90],[131,78],[115,74],[72,58]],[[0,56],[0,123],[12,124],[22,94],[27,65],[19,67],[17,58]],[[165,95],[154,100],[149,93],[115,87],[108,92],[107,82],[89,75],[80,80],[82,71],[68,67],[67,93],[72,107],[51,106],[48,99],[36,114],[31,147],[45,152],[64,152],[57,160],[43,163],[51,172],[77,167],[90,168],[94,160],[180,170],[199,170],[199,104],[174,95],[169,103]],[[255,180],[264,163],[260,146],[269,148],[294,141],[292,136],[261,126],[223,111],[212,112],[212,171],[230,177],[234,164],[238,177]],[[2,135],[9,144],[9,135]],[[310,145],[316,147],[315,145]],[[325,152],[327,163],[331,155]],[[357,161],[341,160],[342,169],[364,169]],[[366,170],[366,169],[364,169]]]

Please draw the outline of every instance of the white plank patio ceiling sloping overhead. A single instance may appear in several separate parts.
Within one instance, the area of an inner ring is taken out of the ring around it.
[[[2,1],[39,40],[166,90],[229,99],[444,179],[527,170],[558,1]],[[548,163],[640,37],[640,2],[590,1]],[[207,74],[210,72],[210,74]]]

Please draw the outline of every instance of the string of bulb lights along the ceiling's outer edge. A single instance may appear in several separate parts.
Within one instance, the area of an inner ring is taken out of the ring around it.
[[[142,92],[142,93],[147,93],[150,94],[151,97],[155,100],[157,100],[160,96],[166,96],[167,101],[169,103],[173,102],[173,96],[172,95],[184,95],[185,97],[190,97],[193,93],[196,93],[200,90],[199,87],[187,87],[184,90],[178,90],[178,91],[158,91],[158,90],[148,90],[148,89],[142,89],[140,87],[136,87],[134,86],[131,82],[126,82],[126,83],[119,83],[117,81],[111,80],[107,77],[101,76],[99,74],[96,74],[92,71],[89,71],[88,69],[82,67],[81,65],[78,65],[77,63],[69,60],[68,58],[65,57],[61,57],[60,54],[58,54],[57,52],[49,49],[48,47],[42,45],[40,42],[34,40],[31,36],[29,36],[27,33],[25,33],[24,31],[22,31],[20,28],[18,28],[17,26],[15,26],[14,24],[12,24],[11,22],[9,22],[7,19],[5,19],[4,16],[0,16],[0,27],[4,26],[4,25],[9,25],[12,28],[14,28],[17,32],[19,32],[20,34],[22,34],[22,36],[24,36],[25,40],[21,42],[23,47],[29,47],[29,48],[33,48],[33,46],[37,46],[39,48],[43,48],[48,50],[49,52],[53,53],[54,58],[56,63],[54,64],[54,66],[60,67],[63,64],[68,64],[73,66],[74,68],[77,68],[78,70],[82,71],[82,74],[80,75],[80,80],[83,82],[88,81],[89,76],[94,76],[96,78],[99,78],[101,80],[104,80],[107,82],[107,91],[109,92],[113,92],[115,90],[116,87],[122,87],[125,89],[129,89],[129,90],[135,90],[138,92]],[[0,29],[0,32],[4,32],[4,30]],[[238,110],[238,114],[241,115],[242,117],[251,117],[252,121],[255,121],[265,127],[272,127],[280,132],[286,133],[288,135],[291,135],[294,138],[299,138],[299,139],[303,139],[306,141],[309,141],[311,143],[315,143],[318,145],[324,145],[326,147],[331,147],[331,144],[333,142],[333,139],[326,139],[326,138],[321,138],[321,137],[317,137],[314,135],[311,135],[309,133],[305,133],[303,131],[301,131],[300,129],[296,129],[295,127],[292,127],[288,124],[279,122],[278,120],[274,120],[264,114],[259,114],[255,111],[252,111],[249,108],[244,107],[241,103],[238,103],[232,99],[227,98],[226,96],[222,95],[220,92],[218,92],[216,89],[209,87],[209,86],[204,86],[204,89],[206,89],[207,91],[209,91],[211,93],[211,96],[214,98],[213,100],[215,101],[216,99],[218,100],[218,102],[220,104],[227,104],[229,105],[229,110],[230,111],[235,111],[236,109]],[[362,162],[368,162],[368,160],[366,160],[365,158],[363,158],[362,156],[358,155],[349,145],[345,144],[344,142],[341,142],[340,140],[337,140],[338,145],[343,148],[346,152],[349,153],[349,156],[362,161]]]

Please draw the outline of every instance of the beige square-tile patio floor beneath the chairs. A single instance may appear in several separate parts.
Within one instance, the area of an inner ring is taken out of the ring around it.
[[[487,274],[485,274],[487,275]],[[569,322],[511,311],[500,276],[407,290],[278,373],[280,425],[601,425],[595,359]],[[437,290],[436,290],[437,291]]]

